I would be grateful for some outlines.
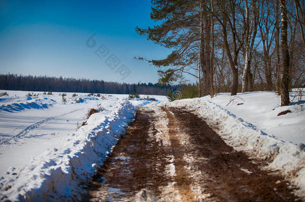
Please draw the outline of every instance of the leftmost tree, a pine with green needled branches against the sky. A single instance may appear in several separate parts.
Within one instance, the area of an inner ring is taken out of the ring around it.
[[[136,27],[136,32],[146,35],[147,40],[174,49],[164,59],[148,60],[157,67],[168,67],[165,71],[158,70],[160,83],[176,81],[183,73],[193,75],[186,71],[185,67],[195,64],[198,57],[199,61],[203,58],[198,45],[203,45],[202,41],[199,43],[200,39],[203,39],[203,32],[200,36],[199,31],[202,26],[199,1],[201,0],[152,0],[150,17],[161,21],[161,24],[144,29]]]

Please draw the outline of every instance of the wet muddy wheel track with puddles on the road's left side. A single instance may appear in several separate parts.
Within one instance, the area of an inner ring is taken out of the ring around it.
[[[136,113],[135,121],[88,185],[83,201],[157,201],[158,187],[166,186],[169,179],[163,176],[162,141],[151,137],[157,133],[151,124],[154,121],[152,111]]]

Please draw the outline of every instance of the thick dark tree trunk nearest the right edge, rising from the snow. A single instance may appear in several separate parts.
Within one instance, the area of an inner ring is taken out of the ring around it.
[[[282,54],[282,65],[281,65],[281,83],[280,83],[280,98],[281,106],[289,105],[289,51],[287,43],[287,10],[285,0],[279,0],[280,4],[280,16],[281,16],[281,30],[280,30],[280,48]]]

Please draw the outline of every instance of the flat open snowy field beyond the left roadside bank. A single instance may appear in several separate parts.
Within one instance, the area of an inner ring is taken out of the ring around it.
[[[117,102],[128,98],[128,95],[100,94],[97,97],[97,94],[65,93],[67,102],[64,104],[62,92],[60,95],[59,92],[52,95],[34,92],[36,96],[32,97],[27,96],[27,91],[7,93],[0,97],[0,177],[9,167],[19,168],[30,162],[32,156],[57,148],[85,121],[88,109],[102,105],[110,111]],[[166,99],[165,96],[149,97]],[[129,102],[139,106],[152,101],[134,99]]]

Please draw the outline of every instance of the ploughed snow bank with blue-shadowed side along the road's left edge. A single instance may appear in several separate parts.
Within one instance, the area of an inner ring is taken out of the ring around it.
[[[80,200],[81,183],[90,179],[134,119],[136,108],[126,100],[95,113],[87,125],[53,148],[0,178],[1,201]]]

